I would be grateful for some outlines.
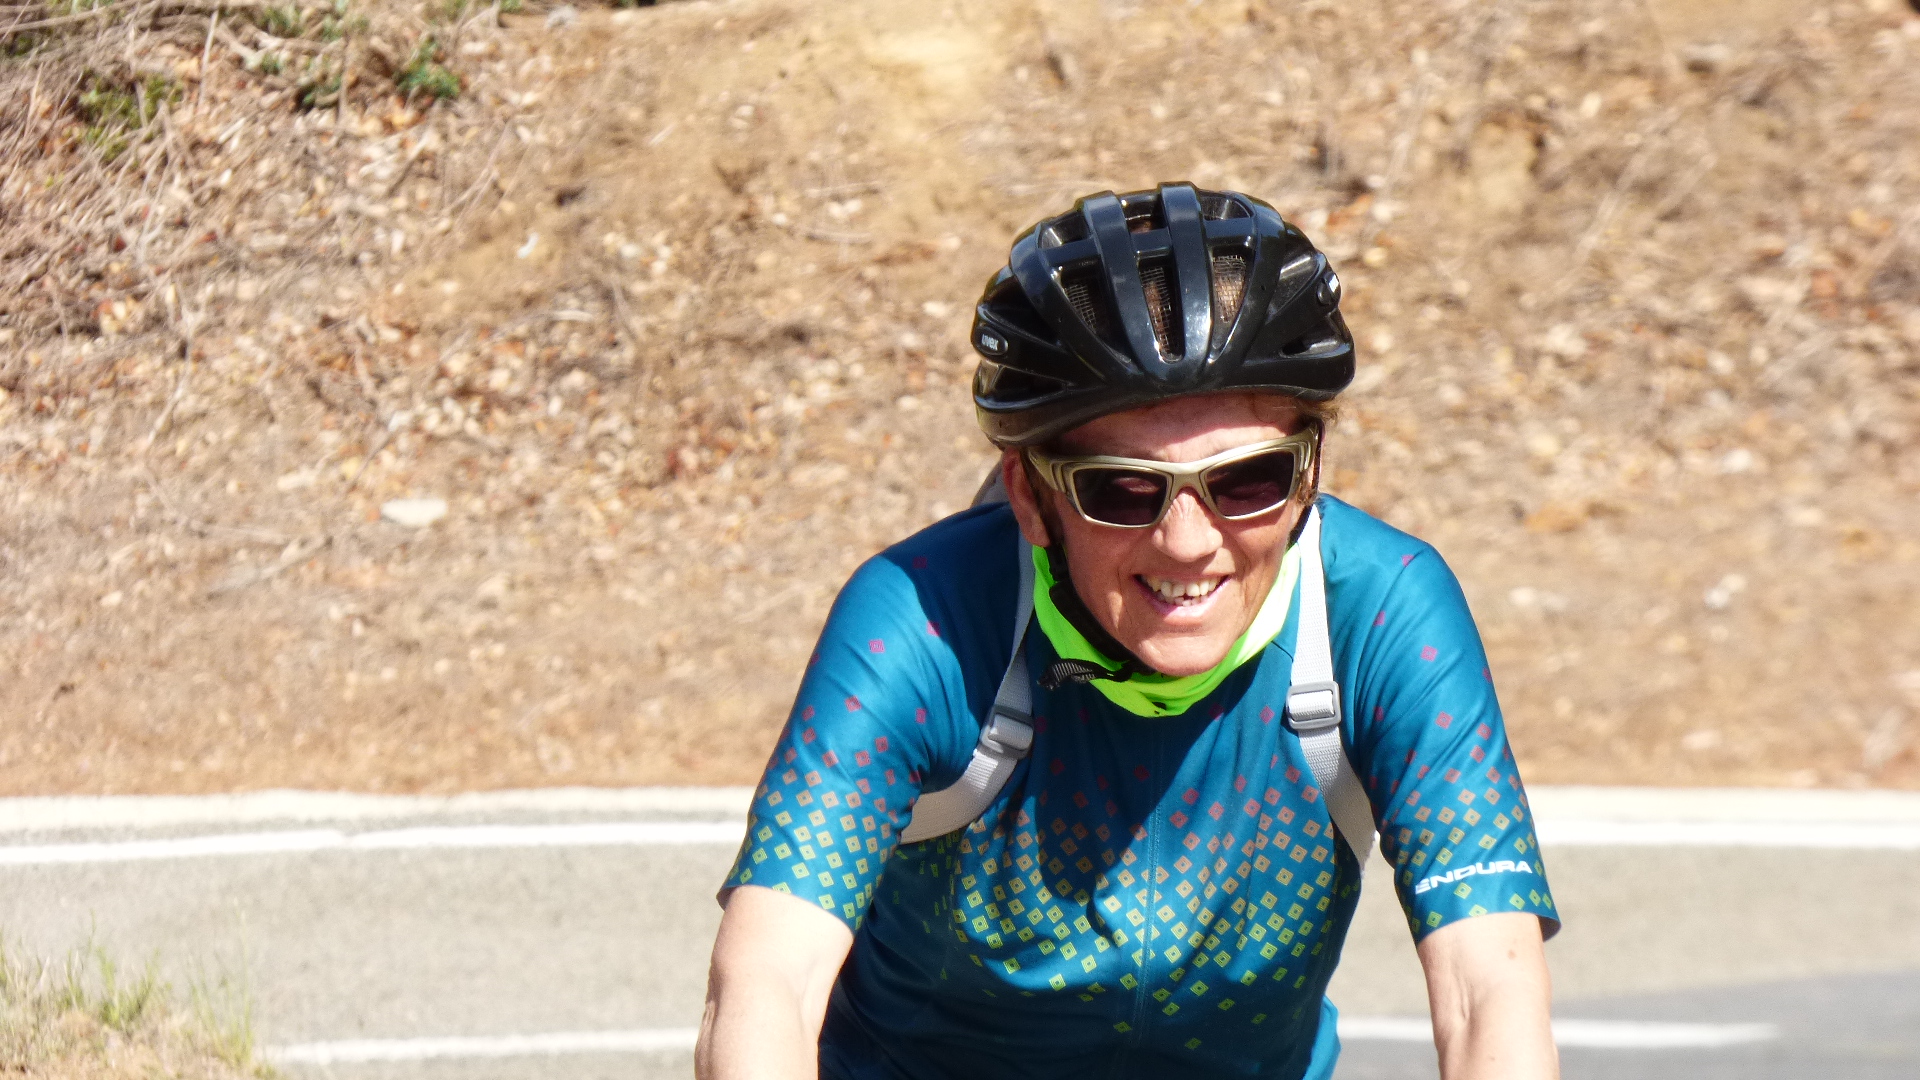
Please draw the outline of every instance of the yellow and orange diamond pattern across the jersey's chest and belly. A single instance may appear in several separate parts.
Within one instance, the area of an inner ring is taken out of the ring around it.
[[[1315,801],[1311,786],[1288,784],[1290,799]],[[1256,982],[1306,986],[1334,901],[1357,896],[1357,874],[1336,863],[1325,815],[1275,807],[1283,801],[1275,788],[1269,801],[1246,799],[1233,811],[1217,799],[1194,807],[1198,792],[1188,790],[1152,822],[1171,842],[1162,844],[1169,857],[1162,863],[1148,828],[1129,830],[1114,801],[1075,790],[1066,799],[1075,807],[1069,821],[1039,809],[1052,796],[1048,786],[991,832],[975,822],[956,846],[979,872],[958,878],[954,938],[977,967],[1050,972],[1020,982],[1027,992],[1091,999],[1112,986],[1133,990],[1156,969],[1164,984],[1150,997],[1162,1017],[1227,1013]],[[1238,1019],[1260,1024],[1267,1015],[1246,1009]]]

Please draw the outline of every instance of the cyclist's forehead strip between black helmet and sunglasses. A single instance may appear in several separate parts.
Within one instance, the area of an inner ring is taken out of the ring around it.
[[[1089,421],[1060,436],[1060,450],[1152,461],[1198,461],[1298,429],[1300,413],[1284,398],[1208,394]]]

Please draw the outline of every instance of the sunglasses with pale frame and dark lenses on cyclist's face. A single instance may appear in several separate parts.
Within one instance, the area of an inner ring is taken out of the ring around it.
[[[1173,505],[1181,488],[1192,488],[1210,511],[1225,521],[1271,513],[1300,490],[1313,467],[1319,429],[1284,438],[1236,446],[1200,461],[1148,461],[1104,454],[1050,457],[1027,452],[1046,486],[1068,496],[1073,509],[1094,525],[1152,528]]]

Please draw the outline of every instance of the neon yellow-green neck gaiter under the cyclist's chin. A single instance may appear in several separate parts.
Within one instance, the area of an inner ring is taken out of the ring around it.
[[[1094,678],[1092,688],[1106,694],[1106,700],[1137,717],[1177,717],[1190,709],[1194,701],[1212,694],[1236,667],[1254,659],[1265,650],[1286,625],[1286,609],[1294,600],[1294,584],[1300,580],[1300,548],[1286,548],[1281,557],[1281,575],[1261,601],[1254,625],[1240,634],[1240,640],[1227,650],[1227,657],[1200,675],[1135,675],[1127,680]],[[1041,621],[1041,630],[1054,644],[1054,651],[1064,659],[1096,663],[1108,671],[1119,661],[1106,657],[1087,636],[1068,623],[1068,617],[1054,607],[1054,571],[1046,561],[1046,550],[1033,548],[1033,617]]]

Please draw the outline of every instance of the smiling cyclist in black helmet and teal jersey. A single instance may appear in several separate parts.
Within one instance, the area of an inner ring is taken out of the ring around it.
[[[1557,1074],[1467,603],[1319,492],[1338,302],[1236,192],[1016,240],[972,334],[1006,500],[841,590],[722,890],[701,1076],[1331,1076],[1375,828],[1442,1074]]]

